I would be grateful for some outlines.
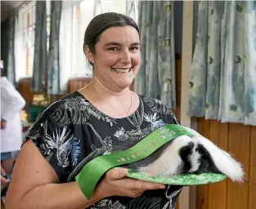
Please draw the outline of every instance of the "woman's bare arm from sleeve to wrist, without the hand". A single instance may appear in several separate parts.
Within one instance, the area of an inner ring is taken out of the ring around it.
[[[31,140],[20,150],[7,191],[7,209],[84,209],[101,198],[85,198],[76,182],[57,184],[56,172]]]

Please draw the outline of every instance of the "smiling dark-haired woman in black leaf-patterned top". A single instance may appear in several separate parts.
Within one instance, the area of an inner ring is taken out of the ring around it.
[[[135,145],[165,123],[177,123],[168,106],[129,89],[141,61],[134,20],[117,13],[96,16],[86,29],[83,51],[92,64],[92,82],[52,104],[29,131],[7,208],[139,209],[170,202],[174,207],[181,187],[128,179],[125,168],[108,171],[90,200],[74,181],[88,159]]]

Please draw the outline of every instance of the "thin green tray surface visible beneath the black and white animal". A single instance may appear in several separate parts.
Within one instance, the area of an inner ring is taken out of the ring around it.
[[[137,180],[146,180],[150,182],[160,183],[164,185],[205,185],[210,183],[216,183],[221,180],[227,179],[224,174],[218,173],[202,173],[202,174],[183,174],[178,176],[169,177],[154,177],[143,176],[140,172],[128,169],[129,178]]]

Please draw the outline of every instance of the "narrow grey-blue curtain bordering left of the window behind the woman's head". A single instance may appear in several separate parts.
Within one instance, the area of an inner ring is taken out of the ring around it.
[[[47,93],[61,94],[60,77],[60,25],[62,1],[51,1],[50,49],[47,63]],[[66,33],[71,33],[67,31]]]

